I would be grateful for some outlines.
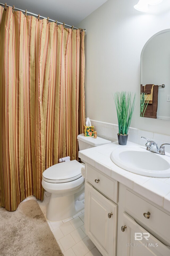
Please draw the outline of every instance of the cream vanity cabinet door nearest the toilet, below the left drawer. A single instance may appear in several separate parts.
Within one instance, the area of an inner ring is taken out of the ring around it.
[[[87,182],[85,184],[85,231],[103,256],[116,255],[117,205]]]

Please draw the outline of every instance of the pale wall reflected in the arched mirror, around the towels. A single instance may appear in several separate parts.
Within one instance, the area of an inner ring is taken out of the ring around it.
[[[165,31],[152,37],[142,51],[141,84],[165,84],[158,89],[157,118],[170,120],[170,31]]]

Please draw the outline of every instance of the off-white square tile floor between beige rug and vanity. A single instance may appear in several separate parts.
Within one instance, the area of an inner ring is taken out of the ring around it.
[[[31,196],[24,199],[22,202],[31,199],[36,200],[46,218],[50,196],[51,194],[45,191],[43,201],[37,200],[36,197]],[[46,221],[64,256],[102,256],[85,233],[84,210],[69,219],[49,221],[46,218]]]

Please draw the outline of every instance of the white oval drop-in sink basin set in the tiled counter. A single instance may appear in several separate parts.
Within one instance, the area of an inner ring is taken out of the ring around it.
[[[170,156],[159,155],[142,146],[122,146],[115,149],[110,158],[113,163],[132,173],[157,178],[170,177]]]

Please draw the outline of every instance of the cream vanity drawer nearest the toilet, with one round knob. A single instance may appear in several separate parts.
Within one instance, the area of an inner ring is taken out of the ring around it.
[[[87,181],[99,192],[106,195],[113,202],[118,202],[118,182],[105,177],[92,167],[87,165]]]

